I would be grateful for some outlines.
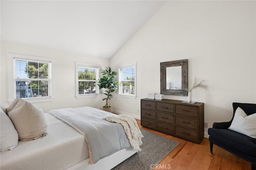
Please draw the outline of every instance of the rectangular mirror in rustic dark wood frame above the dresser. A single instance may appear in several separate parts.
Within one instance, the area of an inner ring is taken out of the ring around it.
[[[160,93],[187,96],[188,59],[160,63]]]

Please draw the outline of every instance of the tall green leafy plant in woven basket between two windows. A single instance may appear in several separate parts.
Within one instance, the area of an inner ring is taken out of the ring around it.
[[[98,86],[100,89],[104,88],[106,93],[106,98],[102,99],[102,101],[106,100],[106,105],[102,107],[102,110],[111,112],[111,106],[108,105],[108,99],[112,98],[113,95],[110,93],[114,92],[118,87],[118,81],[114,81],[114,75],[117,75],[115,71],[112,71],[108,66],[102,73],[102,78],[99,79]]]

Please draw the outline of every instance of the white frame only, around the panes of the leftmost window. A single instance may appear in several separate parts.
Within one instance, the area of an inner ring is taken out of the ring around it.
[[[15,59],[21,60],[28,60],[28,61],[43,61],[50,63],[48,70],[48,77],[49,77],[49,90],[47,97],[29,97],[29,98],[22,98],[26,101],[31,103],[38,103],[38,102],[48,102],[53,101],[55,95],[55,83],[54,83],[54,76],[52,68],[54,68],[54,59],[46,58],[46,57],[38,57],[33,55],[23,55],[23,54],[16,54],[16,53],[8,53],[8,67],[9,67],[9,101],[12,102],[16,98],[16,79],[15,79]]]

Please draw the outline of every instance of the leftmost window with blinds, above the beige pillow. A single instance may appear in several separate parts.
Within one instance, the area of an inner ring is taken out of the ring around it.
[[[9,55],[13,63],[10,101],[16,97],[31,100],[31,102],[40,102],[44,99],[49,101],[52,98],[52,62],[54,60],[29,55]]]

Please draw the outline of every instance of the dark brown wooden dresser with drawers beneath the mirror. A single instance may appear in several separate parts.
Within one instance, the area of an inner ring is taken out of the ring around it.
[[[204,103],[141,99],[141,125],[200,143],[204,137]]]

